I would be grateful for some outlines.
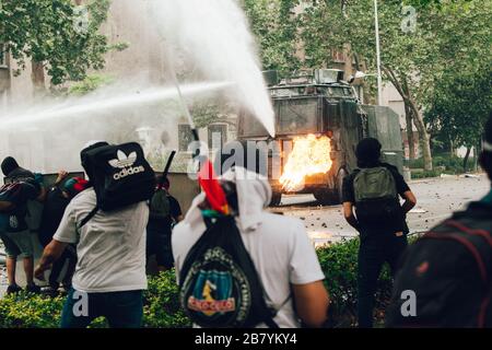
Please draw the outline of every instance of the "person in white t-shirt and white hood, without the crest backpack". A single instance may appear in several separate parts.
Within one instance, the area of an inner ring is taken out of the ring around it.
[[[246,143],[235,143],[236,150],[241,149],[239,153],[245,152],[243,160],[249,160]],[[279,327],[300,327],[301,318],[307,326],[324,325],[329,304],[323,284],[325,276],[302,221],[268,212],[271,187],[268,179],[258,174],[261,166],[242,160],[231,162],[233,156],[222,153],[216,158],[222,165],[230,164],[223,168],[220,184],[227,198],[229,212],[235,218],[241,238],[256,268],[265,302],[269,310],[273,310],[273,323]],[[175,226],[172,240],[178,279],[188,253],[207,228],[213,225],[216,215],[202,192],[192,201],[184,221]],[[179,282],[183,284],[184,281]],[[220,295],[215,284],[207,285]],[[203,287],[204,294],[208,293],[207,285]],[[201,299],[201,292],[196,296]]]

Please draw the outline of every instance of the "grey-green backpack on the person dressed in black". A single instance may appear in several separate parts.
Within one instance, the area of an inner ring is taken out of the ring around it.
[[[355,214],[362,225],[394,223],[399,230],[403,212],[395,176],[384,166],[363,168],[353,180]]]

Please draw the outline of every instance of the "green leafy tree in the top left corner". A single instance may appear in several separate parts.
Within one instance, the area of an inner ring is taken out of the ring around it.
[[[104,67],[112,48],[98,33],[106,20],[109,0],[91,0],[78,7],[71,0],[3,0],[0,2],[0,43],[16,61],[19,74],[32,61],[33,82],[45,88],[45,71],[51,85],[81,81],[90,69]]]

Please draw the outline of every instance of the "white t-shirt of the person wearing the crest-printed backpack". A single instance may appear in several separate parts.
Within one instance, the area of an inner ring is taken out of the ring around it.
[[[241,232],[239,229],[241,236],[263,284],[267,304],[278,310],[276,323],[283,328],[300,327],[291,284],[320,281],[325,275],[301,220],[266,211],[260,215],[260,225],[250,232]],[[190,230],[186,222],[174,229],[173,254],[177,277],[189,249],[204,231],[204,223],[200,230]]]

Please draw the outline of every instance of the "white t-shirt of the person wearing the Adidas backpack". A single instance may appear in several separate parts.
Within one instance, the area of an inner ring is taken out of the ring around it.
[[[145,226],[149,206],[139,202],[105,213],[97,211],[80,231],[80,222],[94,209],[94,189],[79,194],[67,207],[54,238],[77,244],[75,290],[89,293],[147,289]]]

